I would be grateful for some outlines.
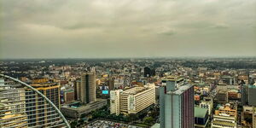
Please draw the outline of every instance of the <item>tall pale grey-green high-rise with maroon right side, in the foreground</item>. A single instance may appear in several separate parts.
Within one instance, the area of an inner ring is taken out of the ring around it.
[[[167,79],[160,87],[160,128],[194,128],[194,86]]]

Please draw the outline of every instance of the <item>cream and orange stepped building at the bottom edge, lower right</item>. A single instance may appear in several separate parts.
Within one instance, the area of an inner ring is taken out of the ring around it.
[[[227,103],[215,110],[212,119],[212,128],[230,127],[236,128],[237,109],[236,106],[231,106]]]

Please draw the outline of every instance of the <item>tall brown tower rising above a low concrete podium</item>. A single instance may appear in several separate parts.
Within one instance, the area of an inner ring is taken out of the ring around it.
[[[81,76],[80,101],[83,103],[96,102],[96,73],[84,73]]]

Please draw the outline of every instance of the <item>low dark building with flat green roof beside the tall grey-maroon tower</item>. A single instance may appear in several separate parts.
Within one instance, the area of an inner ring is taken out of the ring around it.
[[[208,109],[195,107],[195,127],[206,128],[209,121]]]

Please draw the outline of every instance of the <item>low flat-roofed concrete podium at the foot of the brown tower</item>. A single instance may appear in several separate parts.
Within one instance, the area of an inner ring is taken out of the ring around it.
[[[90,113],[106,105],[107,100],[105,99],[96,99],[96,102],[90,102],[85,105],[81,105],[79,102],[73,102],[63,105],[61,107],[61,113],[63,113],[65,117],[78,119],[82,114]]]

